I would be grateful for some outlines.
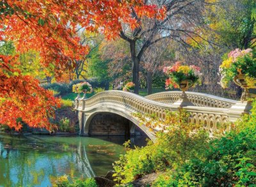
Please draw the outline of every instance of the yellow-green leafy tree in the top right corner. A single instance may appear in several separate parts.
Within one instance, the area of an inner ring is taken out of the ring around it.
[[[215,43],[230,49],[247,49],[256,43],[255,0],[208,0],[207,22]],[[212,37],[210,36],[210,37]]]

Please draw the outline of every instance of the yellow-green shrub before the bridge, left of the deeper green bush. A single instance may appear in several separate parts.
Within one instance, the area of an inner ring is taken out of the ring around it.
[[[147,117],[137,116],[148,127],[155,126],[158,120],[156,116],[150,121],[146,120]],[[186,112],[168,113],[164,123],[168,126],[168,133],[158,133],[155,144],[148,142],[146,147],[136,147],[115,161],[114,176],[118,183],[129,183],[145,174],[177,168],[186,160],[201,158],[205,154],[209,135],[201,126],[188,123]]]

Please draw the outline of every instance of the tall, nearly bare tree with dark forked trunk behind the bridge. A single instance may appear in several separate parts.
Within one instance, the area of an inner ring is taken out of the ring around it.
[[[164,38],[175,40],[185,47],[185,38],[196,36],[195,27],[200,27],[204,0],[145,1],[145,6],[155,3],[160,8],[159,16],[143,17],[143,12],[132,8],[131,18],[138,22],[134,29],[123,24],[120,37],[129,42],[134,93],[139,91],[139,68],[144,52]]]

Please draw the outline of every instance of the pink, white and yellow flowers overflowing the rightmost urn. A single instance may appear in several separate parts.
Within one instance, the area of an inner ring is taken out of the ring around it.
[[[228,82],[236,75],[247,75],[246,84],[256,86],[256,56],[252,49],[236,49],[228,54],[220,65],[221,87],[228,87]]]

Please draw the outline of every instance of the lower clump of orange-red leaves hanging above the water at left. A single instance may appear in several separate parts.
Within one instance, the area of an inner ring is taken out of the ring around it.
[[[60,107],[60,100],[38,86],[38,80],[12,68],[15,64],[10,61],[16,62],[16,59],[0,56],[0,124],[19,130],[22,126],[16,120],[22,117],[31,127],[51,130],[54,126],[49,123],[49,117],[54,117],[54,107]]]

